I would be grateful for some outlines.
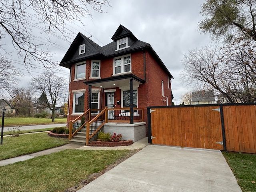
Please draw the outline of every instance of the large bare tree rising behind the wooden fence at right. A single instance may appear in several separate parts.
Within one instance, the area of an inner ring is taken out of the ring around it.
[[[256,102],[255,43],[235,40],[222,48],[209,45],[184,56],[183,79],[214,89],[230,103]]]

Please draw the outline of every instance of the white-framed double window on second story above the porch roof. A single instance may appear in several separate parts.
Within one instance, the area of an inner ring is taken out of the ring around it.
[[[114,58],[114,74],[131,72],[131,55]]]

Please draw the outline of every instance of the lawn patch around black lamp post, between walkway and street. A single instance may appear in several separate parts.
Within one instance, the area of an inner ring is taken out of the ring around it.
[[[42,151],[67,143],[68,139],[50,137],[47,133],[4,137],[3,144],[0,145],[0,160]]]

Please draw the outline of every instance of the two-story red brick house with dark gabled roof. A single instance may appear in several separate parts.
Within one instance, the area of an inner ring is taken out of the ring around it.
[[[150,44],[124,26],[111,39],[101,47],[78,33],[60,62],[70,69],[68,122],[88,109],[92,119],[107,107],[104,131],[130,123],[146,136],[146,107],[171,105],[173,77]]]

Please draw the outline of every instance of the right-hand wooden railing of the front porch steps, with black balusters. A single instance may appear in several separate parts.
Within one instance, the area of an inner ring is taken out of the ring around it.
[[[96,117],[92,120],[86,121],[86,145],[89,140],[108,122],[108,108],[105,107]]]

